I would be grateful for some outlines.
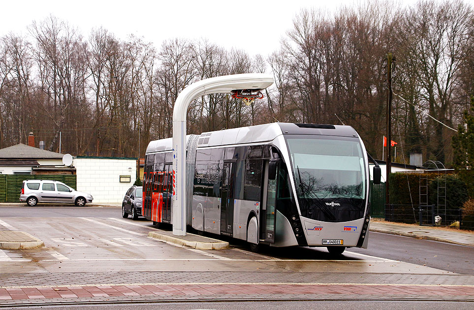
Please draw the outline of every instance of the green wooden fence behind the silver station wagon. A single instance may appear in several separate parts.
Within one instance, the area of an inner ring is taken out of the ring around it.
[[[76,188],[75,175],[36,174],[36,175],[0,175],[0,202],[19,202],[21,186],[24,180],[54,180]]]

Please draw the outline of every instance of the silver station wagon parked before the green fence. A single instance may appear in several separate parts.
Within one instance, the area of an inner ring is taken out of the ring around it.
[[[82,207],[92,202],[92,195],[77,191],[64,183],[50,180],[25,180],[21,187],[20,201],[29,206],[38,202],[74,203]]]

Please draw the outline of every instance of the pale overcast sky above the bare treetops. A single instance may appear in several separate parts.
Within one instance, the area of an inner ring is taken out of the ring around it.
[[[394,0],[396,1],[396,0]],[[207,38],[226,49],[237,47],[250,55],[268,56],[280,47],[285,31],[301,8],[335,11],[359,0],[9,0],[1,4],[0,35],[28,33],[33,20],[50,14],[78,27],[87,38],[100,27],[121,39],[143,36],[157,48],[175,37]],[[416,0],[402,0],[404,5]],[[474,0],[467,0],[473,3]]]

